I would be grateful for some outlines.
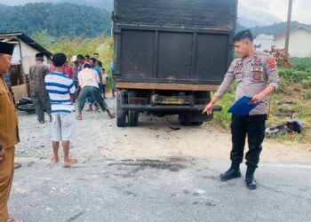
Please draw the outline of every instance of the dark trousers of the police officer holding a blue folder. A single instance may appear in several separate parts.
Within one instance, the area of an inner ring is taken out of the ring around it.
[[[246,165],[258,167],[262,142],[265,138],[267,115],[232,115],[232,150],[230,159],[233,164],[243,162],[243,151],[247,136],[249,151],[245,155]]]

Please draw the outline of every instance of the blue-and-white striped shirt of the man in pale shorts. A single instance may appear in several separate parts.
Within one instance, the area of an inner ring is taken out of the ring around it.
[[[57,72],[49,73],[44,78],[46,91],[49,93],[52,113],[71,113],[74,105],[70,100],[76,92],[71,78]]]

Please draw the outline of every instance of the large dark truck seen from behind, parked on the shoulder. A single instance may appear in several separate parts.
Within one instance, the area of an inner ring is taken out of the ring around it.
[[[115,0],[116,125],[137,126],[142,112],[210,121],[202,111],[232,60],[236,15],[237,0]]]

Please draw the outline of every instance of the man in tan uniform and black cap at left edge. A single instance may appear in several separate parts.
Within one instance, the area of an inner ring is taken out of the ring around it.
[[[11,66],[13,50],[13,44],[0,42],[0,222],[10,221],[7,202],[14,174],[14,146],[20,141],[12,94],[4,83],[4,74]]]

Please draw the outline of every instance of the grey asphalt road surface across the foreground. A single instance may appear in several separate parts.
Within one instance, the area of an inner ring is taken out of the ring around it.
[[[311,221],[311,163],[261,163],[251,191],[244,177],[219,180],[225,160],[107,158],[70,169],[17,161],[9,206],[26,222]]]

